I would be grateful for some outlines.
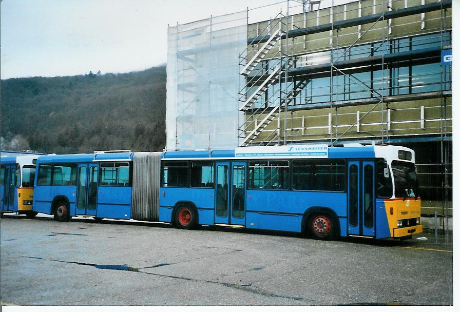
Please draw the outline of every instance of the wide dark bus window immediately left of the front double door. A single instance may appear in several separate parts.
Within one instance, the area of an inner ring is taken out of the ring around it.
[[[345,163],[343,160],[293,161],[292,181],[297,190],[343,191]]]

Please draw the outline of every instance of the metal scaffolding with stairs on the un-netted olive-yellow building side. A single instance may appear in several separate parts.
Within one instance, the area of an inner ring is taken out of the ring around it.
[[[430,65],[451,48],[451,0],[286,5],[286,15],[248,25],[239,145],[426,141],[438,154],[419,174],[443,194],[425,211],[451,215],[452,68]]]

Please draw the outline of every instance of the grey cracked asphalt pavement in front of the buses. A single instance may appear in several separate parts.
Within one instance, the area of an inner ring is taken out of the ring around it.
[[[3,305],[452,305],[450,234],[292,233],[90,218],[0,220]],[[426,240],[416,238],[425,237]]]

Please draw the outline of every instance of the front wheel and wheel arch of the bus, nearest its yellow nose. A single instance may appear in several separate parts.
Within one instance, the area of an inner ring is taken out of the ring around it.
[[[303,214],[302,233],[319,240],[337,239],[340,223],[337,214],[329,207],[310,207]]]

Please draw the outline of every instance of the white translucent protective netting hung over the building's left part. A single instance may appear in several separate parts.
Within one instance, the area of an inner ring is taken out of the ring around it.
[[[247,12],[168,28],[166,149],[238,146]]]

